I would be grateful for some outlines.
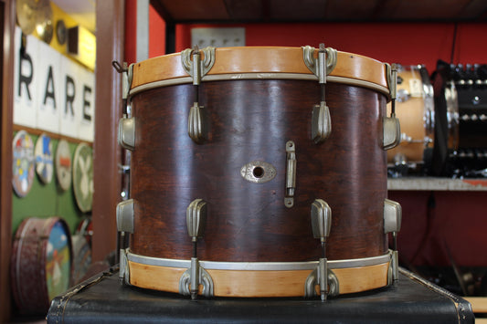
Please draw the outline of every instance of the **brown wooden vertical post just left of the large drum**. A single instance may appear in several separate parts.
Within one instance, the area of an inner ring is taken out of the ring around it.
[[[117,167],[122,161],[117,125],[122,117],[122,77],[111,61],[123,61],[124,7],[124,2],[117,0],[101,1],[96,6],[98,109],[93,142],[93,261],[104,260],[117,247],[115,208],[122,192],[122,175]]]

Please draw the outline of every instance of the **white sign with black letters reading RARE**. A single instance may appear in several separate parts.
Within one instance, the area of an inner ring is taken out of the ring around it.
[[[93,141],[93,72],[16,28],[14,124]]]

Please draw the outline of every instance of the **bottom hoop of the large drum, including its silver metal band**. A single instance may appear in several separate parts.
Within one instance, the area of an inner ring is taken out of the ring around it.
[[[191,266],[189,260],[139,256],[129,250],[123,255],[126,264],[121,275],[128,284],[147,289],[180,293],[180,280]],[[391,257],[389,252],[383,256],[328,261],[328,276],[331,272],[338,283],[336,294],[388,286]],[[199,265],[213,281],[212,296],[275,298],[306,296],[307,282],[319,262],[200,261]],[[318,290],[315,288],[314,292]],[[201,287],[199,293],[203,293]]]

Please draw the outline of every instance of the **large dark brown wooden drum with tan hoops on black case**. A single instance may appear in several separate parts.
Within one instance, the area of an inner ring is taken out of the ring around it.
[[[400,206],[386,200],[385,148],[399,129],[386,117],[388,65],[333,48],[206,47],[123,76],[127,283],[325,298],[391,282],[386,233]]]

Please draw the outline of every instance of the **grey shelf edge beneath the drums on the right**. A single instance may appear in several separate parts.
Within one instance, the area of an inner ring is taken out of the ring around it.
[[[387,179],[389,191],[487,191],[487,179],[405,177]]]

